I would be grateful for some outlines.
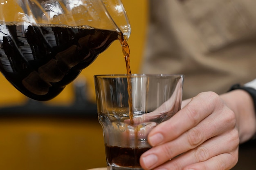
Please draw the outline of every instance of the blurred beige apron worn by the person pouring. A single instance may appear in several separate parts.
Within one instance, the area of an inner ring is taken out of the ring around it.
[[[141,73],[184,74],[183,98],[256,78],[256,0],[150,0]]]

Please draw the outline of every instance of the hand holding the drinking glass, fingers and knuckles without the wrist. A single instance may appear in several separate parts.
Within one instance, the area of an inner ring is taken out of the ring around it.
[[[238,161],[239,145],[235,113],[213,92],[200,93],[182,104],[177,114],[149,133],[153,148],[141,155],[142,168],[232,168]]]

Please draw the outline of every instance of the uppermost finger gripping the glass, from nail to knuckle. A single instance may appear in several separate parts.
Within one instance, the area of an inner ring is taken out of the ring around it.
[[[199,94],[171,119],[157,125],[150,132],[148,142],[156,146],[174,140],[209,116],[216,109],[215,105],[221,105],[217,94],[213,92],[208,92],[207,95]]]

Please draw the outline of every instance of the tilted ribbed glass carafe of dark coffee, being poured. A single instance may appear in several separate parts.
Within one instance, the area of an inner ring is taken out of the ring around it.
[[[57,96],[130,24],[121,0],[0,0],[0,71],[29,98]]]

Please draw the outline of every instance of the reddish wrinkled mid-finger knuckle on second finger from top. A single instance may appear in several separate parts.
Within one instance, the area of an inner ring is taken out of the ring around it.
[[[203,141],[202,133],[198,128],[192,128],[187,132],[187,139],[192,148],[200,145]]]

